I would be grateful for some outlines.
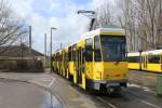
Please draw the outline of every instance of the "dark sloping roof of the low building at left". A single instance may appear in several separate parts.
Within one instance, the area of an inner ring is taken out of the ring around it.
[[[25,44],[12,45],[12,46],[0,46],[0,56],[9,57],[28,57],[29,48]],[[44,56],[42,53],[31,49],[31,56]]]

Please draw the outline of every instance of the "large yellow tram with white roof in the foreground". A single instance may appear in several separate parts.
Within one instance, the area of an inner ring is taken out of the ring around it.
[[[84,90],[113,92],[126,87],[125,33],[119,28],[89,31],[53,54],[53,68]]]

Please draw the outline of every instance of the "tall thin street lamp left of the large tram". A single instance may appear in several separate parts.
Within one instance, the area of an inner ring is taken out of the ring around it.
[[[52,30],[57,28],[51,27],[51,37],[50,37],[50,72],[52,73]]]

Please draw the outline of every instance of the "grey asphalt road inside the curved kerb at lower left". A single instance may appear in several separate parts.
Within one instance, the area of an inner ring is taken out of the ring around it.
[[[1,108],[51,108],[50,94],[25,82],[0,81]]]

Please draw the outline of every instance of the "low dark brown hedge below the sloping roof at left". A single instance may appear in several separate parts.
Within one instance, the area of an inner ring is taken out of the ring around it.
[[[38,59],[0,59],[0,70],[19,72],[42,72],[42,60]]]

